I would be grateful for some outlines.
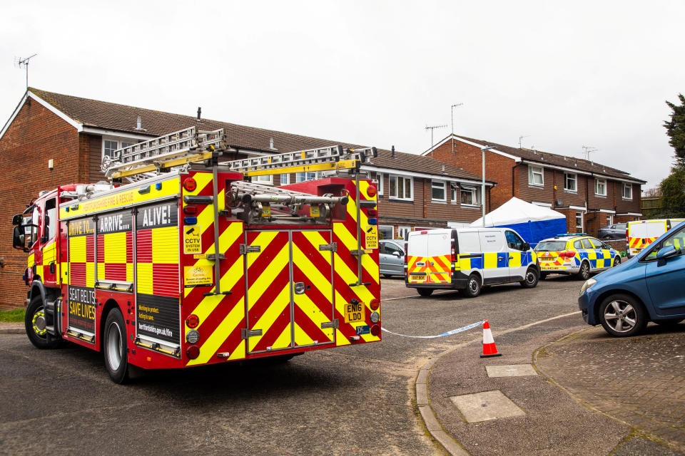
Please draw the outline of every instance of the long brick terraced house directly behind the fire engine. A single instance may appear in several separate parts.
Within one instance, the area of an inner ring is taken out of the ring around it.
[[[5,183],[0,232],[6,234],[0,243],[0,306],[16,306],[26,298],[21,286],[26,255],[11,247],[11,215],[23,212],[41,190],[104,180],[101,161],[119,147],[194,125],[203,130],[223,128],[230,146],[238,150],[235,158],[335,144],[360,147],[29,88],[0,130],[0,170]],[[382,149],[362,170],[379,180],[379,224],[384,237],[480,217],[477,173],[431,157]],[[314,177],[314,173],[297,173],[264,176],[259,182],[282,185]],[[487,181],[487,189],[494,184]]]

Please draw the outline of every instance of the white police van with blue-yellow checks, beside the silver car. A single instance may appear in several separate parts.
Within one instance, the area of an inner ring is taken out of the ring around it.
[[[530,244],[508,228],[430,229],[410,232],[405,283],[421,296],[460,289],[467,297],[485,285],[537,285],[540,266]]]

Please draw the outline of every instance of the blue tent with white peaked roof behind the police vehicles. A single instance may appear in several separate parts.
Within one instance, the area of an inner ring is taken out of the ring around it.
[[[477,219],[471,226],[482,227],[482,218]],[[512,228],[532,246],[542,239],[567,231],[564,214],[515,197],[489,214],[485,214],[484,226],[486,228]]]

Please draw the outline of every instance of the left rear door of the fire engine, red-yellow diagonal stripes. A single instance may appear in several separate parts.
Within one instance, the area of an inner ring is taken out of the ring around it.
[[[248,231],[246,244],[259,252],[245,254],[248,353],[292,346],[290,324],[290,243],[287,231]]]

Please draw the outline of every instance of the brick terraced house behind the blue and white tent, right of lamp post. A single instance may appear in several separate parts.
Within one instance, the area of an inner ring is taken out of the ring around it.
[[[607,224],[640,219],[644,180],[589,160],[448,135],[422,155],[497,182],[492,209],[518,197],[566,215],[568,232],[597,235]]]

